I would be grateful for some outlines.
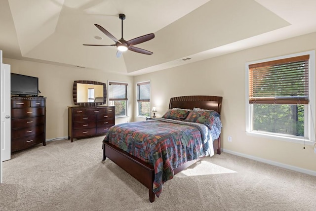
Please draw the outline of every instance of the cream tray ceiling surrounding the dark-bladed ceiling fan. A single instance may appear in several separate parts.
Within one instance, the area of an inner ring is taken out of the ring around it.
[[[316,32],[316,0],[0,0],[5,58],[139,75]],[[126,51],[125,40],[155,33]],[[102,37],[96,40],[94,37]],[[190,60],[183,61],[190,57]]]

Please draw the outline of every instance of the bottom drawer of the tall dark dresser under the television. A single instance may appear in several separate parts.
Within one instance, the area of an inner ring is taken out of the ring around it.
[[[42,143],[45,139],[45,134],[41,133],[34,136],[17,138],[11,140],[11,152],[29,148],[32,145]]]

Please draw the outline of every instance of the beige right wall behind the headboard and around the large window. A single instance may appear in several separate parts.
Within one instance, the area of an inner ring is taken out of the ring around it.
[[[162,116],[168,109],[170,97],[223,96],[224,150],[273,161],[275,164],[316,171],[314,146],[306,145],[306,149],[303,149],[303,144],[259,138],[245,133],[245,63],[314,49],[316,33],[136,76],[134,81],[151,80],[151,106],[157,107],[156,116]],[[140,118],[135,120],[139,121]],[[227,141],[228,136],[232,136],[232,142]]]

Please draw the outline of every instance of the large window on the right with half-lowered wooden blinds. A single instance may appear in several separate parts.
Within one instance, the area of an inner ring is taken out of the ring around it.
[[[247,63],[246,130],[315,140],[315,51]]]

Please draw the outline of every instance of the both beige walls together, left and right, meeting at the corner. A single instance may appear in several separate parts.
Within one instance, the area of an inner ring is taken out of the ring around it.
[[[313,153],[312,145],[306,145],[306,149],[303,149],[303,144],[245,133],[245,63],[314,49],[316,33],[135,77],[6,58],[3,63],[10,64],[13,73],[39,77],[41,94],[47,97],[46,139],[68,136],[67,106],[73,105],[73,81],[91,80],[107,84],[111,80],[129,83],[129,117],[116,119],[116,123],[123,123],[133,121],[134,114],[137,114],[134,97],[136,83],[150,80],[151,106],[157,107],[156,116],[162,116],[168,109],[170,97],[223,96],[224,151],[316,171],[316,154]],[[144,119],[135,117],[135,120]],[[227,141],[228,136],[232,136],[232,142]]]

